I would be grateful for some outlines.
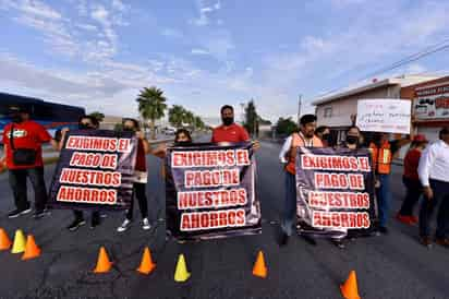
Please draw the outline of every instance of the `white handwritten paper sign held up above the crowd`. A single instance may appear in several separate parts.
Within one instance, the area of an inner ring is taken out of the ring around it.
[[[410,134],[411,107],[408,99],[360,99],[356,125],[365,132]]]

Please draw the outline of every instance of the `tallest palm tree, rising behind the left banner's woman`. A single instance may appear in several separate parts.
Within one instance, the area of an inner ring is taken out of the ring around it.
[[[144,87],[137,96],[138,111],[144,120],[149,119],[151,139],[156,139],[156,120],[165,116],[167,109],[167,98],[163,92],[155,86]]]

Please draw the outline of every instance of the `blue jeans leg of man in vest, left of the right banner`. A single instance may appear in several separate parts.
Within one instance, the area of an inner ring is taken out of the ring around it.
[[[293,225],[296,227],[296,178],[294,175],[286,171],[284,175],[286,198],[282,213],[282,231],[287,236],[292,236]]]

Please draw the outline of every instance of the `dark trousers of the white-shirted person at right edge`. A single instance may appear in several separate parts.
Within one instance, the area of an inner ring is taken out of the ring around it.
[[[435,207],[439,204],[437,215],[436,237],[444,239],[449,237],[449,182],[430,179],[430,188],[434,191],[434,198],[428,200],[424,196],[420,211],[420,235],[422,237],[430,236],[429,222],[434,214]]]

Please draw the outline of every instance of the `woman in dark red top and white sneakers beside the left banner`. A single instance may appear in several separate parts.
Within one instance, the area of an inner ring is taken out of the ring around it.
[[[137,144],[137,159],[135,164],[135,180],[133,183],[133,199],[131,206],[126,212],[125,219],[122,225],[117,228],[117,231],[122,232],[130,228],[133,220],[134,211],[134,195],[137,199],[138,207],[142,214],[142,228],[148,230],[151,228],[148,220],[148,203],[146,198],[146,183],[148,182],[148,174],[146,169],[146,154],[150,153],[148,141],[145,139],[145,134],[141,131],[138,121],[132,118],[123,119],[123,131],[135,132],[138,139]]]

